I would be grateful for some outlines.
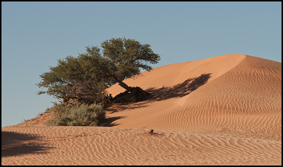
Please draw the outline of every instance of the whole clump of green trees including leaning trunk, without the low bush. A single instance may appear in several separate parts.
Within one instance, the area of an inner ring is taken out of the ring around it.
[[[97,46],[87,46],[86,52],[78,57],[67,56],[59,59],[57,66],[39,75],[38,95],[48,94],[67,105],[68,103],[105,103],[108,97],[106,88],[117,82],[126,89],[112,98],[119,102],[136,96],[137,101],[144,100],[149,93],[139,87],[129,87],[123,80],[138,77],[141,70],[151,71],[149,64],[156,64],[160,55],[154,53],[149,44],[141,44],[135,39],[111,38]]]

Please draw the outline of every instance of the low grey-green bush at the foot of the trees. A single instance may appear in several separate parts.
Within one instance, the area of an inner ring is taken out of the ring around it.
[[[54,103],[46,111],[52,112],[55,116],[46,122],[47,126],[99,126],[99,120],[105,118],[105,111],[99,104],[90,106],[81,104],[71,107]]]

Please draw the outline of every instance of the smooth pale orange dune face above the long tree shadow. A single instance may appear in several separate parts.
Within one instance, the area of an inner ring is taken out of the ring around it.
[[[141,87],[143,90],[149,89],[153,92],[156,89],[173,87],[183,83],[190,78],[197,78],[201,74],[211,74],[209,80],[214,80],[226,73],[231,68],[244,59],[246,55],[221,55],[207,59],[189,61],[184,63],[169,64],[153,68],[151,72],[142,72],[142,77],[136,79],[128,78],[124,82],[128,86]],[[115,96],[125,89],[115,84],[107,89],[112,96]]]

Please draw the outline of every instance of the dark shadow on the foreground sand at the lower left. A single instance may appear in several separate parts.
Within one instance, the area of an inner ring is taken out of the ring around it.
[[[40,137],[41,135],[38,134],[1,131],[1,157],[19,156],[22,154],[43,154],[46,150],[53,148],[36,142]]]

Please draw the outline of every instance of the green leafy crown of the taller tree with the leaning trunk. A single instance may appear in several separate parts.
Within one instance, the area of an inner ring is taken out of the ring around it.
[[[131,78],[139,74],[141,69],[151,71],[152,67],[148,64],[156,64],[160,60],[149,44],[125,37],[106,40],[101,43],[101,47],[108,62],[108,75],[118,80]]]

